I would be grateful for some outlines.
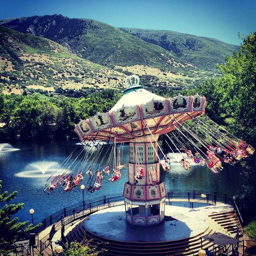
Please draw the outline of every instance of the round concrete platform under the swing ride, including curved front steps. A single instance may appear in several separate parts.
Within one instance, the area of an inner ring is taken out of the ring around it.
[[[193,209],[166,205],[165,220],[160,225],[133,226],[126,222],[121,205],[89,215],[73,228],[68,239],[93,239],[108,255],[190,255],[200,250],[202,236],[225,232],[214,218],[229,218],[228,214],[234,214],[233,208],[223,203]],[[203,240],[203,247],[213,245]]]

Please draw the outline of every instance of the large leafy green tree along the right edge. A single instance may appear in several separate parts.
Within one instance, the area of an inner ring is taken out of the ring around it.
[[[201,84],[200,93],[207,98],[207,114],[235,136],[244,139],[254,148],[256,137],[256,32],[244,38],[239,51],[227,57],[224,65],[218,65],[219,79]],[[243,209],[246,222],[255,217],[256,170],[255,153],[241,163],[244,184],[240,196],[245,201]]]

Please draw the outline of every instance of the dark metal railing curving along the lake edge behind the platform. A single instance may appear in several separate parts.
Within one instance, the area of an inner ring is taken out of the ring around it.
[[[204,197],[202,198],[202,194]],[[181,200],[182,199],[182,200]],[[234,205],[233,198],[227,194],[217,194],[216,192],[205,192],[205,191],[178,191],[178,190],[171,190],[166,194],[166,205],[173,205],[173,206],[180,206],[186,208],[197,208],[197,207],[204,207],[206,205],[216,205],[217,201]],[[36,231],[36,251],[44,252],[45,250],[50,250],[51,247],[51,240],[53,235],[62,228],[62,232],[75,224],[77,221],[85,218],[87,215],[103,210],[104,208],[114,207],[117,205],[124,204],[124,197],[123,195],[118,195],[116,197],[106,198],[98,198],[96,201],[91,201],[90,203],[84,204],[83,202],[79,202],[75,205],[71,205],[69,207],[65,207],[60,211],[57,211],[51,214],[49,217],[46,217],[42,221],[42,226],[39,227]],[[237,207],[235,204],[234,207]],[[238,208],[237,208],[238,210]],[[240,214],[240,213],[239,213]],[[54,224],[54,225],[53,225]],[[51,227],[51,232],[46,234],[43,238],[39,239],[39,233],[45,230],[45,228]],[[23,255],[30,255],[30,247],[28,242],[24,243],[23,241],[19,242],[17,248],[21,247],[19,251],[22,250]],[[17,251],[17,250],[16,250]],[[27,252],[28,254],[26,254]]]

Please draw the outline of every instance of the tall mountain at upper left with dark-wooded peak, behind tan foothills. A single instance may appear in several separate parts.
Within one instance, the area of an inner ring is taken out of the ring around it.
[[[17,18],[3,25],[19,32],[51,39],[66,46],[79,57],[101,65],[150,64],[157,68],[179,68],[170,51],[93,19],[45,15]],[[188,69],[191,67],[188,66]]]

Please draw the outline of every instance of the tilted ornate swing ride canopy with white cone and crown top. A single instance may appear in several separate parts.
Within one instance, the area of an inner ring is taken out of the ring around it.
[[[205,97],[179,95],[166,99],[145,90],[135,75],[127,77],[125,83],[123,97],[109,112],[97,113],[75,126],[81,141],[125,143],[150,134],[161,135],[205,112]]]

